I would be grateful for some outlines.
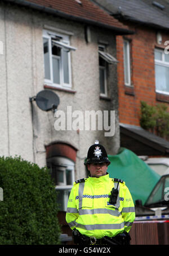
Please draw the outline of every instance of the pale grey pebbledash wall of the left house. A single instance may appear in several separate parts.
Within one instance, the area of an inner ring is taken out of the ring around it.
[[[108,43],[115,57],[115,36],[109,30],[90,27],[91,43],[84,38],[84,24],[41,14],[13,5],[0,5],[0,155],[20,155],[39,166],[46,165],[46,148],[52,143],[65,143],[77,150],[75,179],[86,175],[84,158],[88,147],[99,139],[109,154],[118,152],[117,67],[109,65],[108,99],[100,99],[99,55],[100,41]],[[70,45],[72,90],[53,90],[44,82],[43,29],[61,29],[73,33]],[[29,98],[48,88],[60,98],[58,110],[115,110],[115,135],[105,137],[104,131],[56,131],[54,113],[43,112]]]

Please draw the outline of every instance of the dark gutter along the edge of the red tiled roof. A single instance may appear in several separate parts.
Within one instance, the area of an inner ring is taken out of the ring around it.
[[[8,2],[8,3],[14,3],[16,5],[23,6],[23,7],[29,7],[29,8],[32,8],[33,10],[45,12],[46,14],[54,15],[57,17],[63,17],[65,19],[69,19],[69,20],[73,20],[73,21],[79,21],[80,23],[85,23],[85,24],[89,24],[89,25],[94,25],[96,27],[113,30],[113,32],[115,32],[115,34],[118,34],[118,35],[134,34],[135,33],[132,30],[117,28],[117,27],[113,27],[111,25],[107,25],[107,24],[95,21],[95,20],[90,20],[90,19],[86,19],[83,17],[66,14],[65,12],[58,11],[58,10],[55,10],[50,7],[37,5],[36,3],[32,3],[32,2],[28,2],[28,1],[23,1],[23,0],[1,0],[1,1]]]

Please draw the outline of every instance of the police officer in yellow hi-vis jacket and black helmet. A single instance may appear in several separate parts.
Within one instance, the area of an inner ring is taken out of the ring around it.
[[[68,200],[66,222],[75,244],[130,244],[135,207],[121,179],[106,172],[110,161],[103,145],[95,140],[84,163],[90,175],[74,183]]]

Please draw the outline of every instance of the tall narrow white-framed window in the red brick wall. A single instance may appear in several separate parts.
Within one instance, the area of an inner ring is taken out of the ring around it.
[[[126,48],[124,47],[124,43],[127,43],[127,52],[125,54]],[[125,59],[127,56],[127,60]],[[130,41],[124,39],[123,41],[123,63],[124,63],[124,85],[131,86],[131,61],[130,61]],[[125,65],[127,63],[127,67]],[[126,74],[128,76],[128,81],[126,81]]]

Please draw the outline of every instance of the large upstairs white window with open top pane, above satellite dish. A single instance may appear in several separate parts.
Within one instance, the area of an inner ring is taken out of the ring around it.
[[[45,82],[59,87],[72,87],[69,36],[43,32],[43,52],[45,63]]]

